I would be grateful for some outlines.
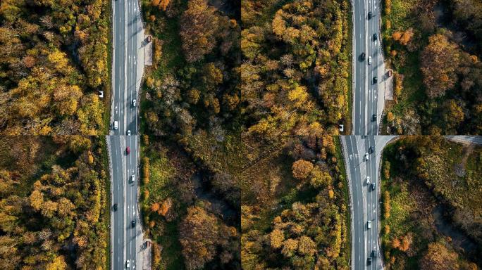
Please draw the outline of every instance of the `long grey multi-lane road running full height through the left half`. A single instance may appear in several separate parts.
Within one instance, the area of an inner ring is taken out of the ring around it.
[[[111,269],[143,269],[144,243],[137,207],[137,97],[144,72],[139,3],[113,0],[112,23],[111,132],[106,139],[111,170]]]

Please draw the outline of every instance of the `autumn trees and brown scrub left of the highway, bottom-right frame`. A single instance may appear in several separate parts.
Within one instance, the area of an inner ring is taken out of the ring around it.
[[[245,169],[243,269],[349,269],[347,183],[335,140],[293,139]]]

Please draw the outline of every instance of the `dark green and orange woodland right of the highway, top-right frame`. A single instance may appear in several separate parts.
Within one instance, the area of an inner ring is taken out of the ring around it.
[[[384,0],[384,134],[482,133],[482,2]]]

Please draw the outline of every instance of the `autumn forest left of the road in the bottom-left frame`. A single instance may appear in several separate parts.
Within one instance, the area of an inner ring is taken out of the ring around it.
[[[0,139],[0,268],[109,269],[104,138]]]

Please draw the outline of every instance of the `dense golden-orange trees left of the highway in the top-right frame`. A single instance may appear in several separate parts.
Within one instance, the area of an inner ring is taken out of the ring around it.
[[[240,91],[252,132],[350,132],[350,1],[242,1]]]

